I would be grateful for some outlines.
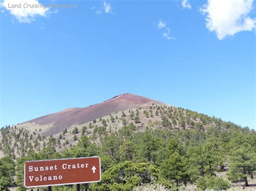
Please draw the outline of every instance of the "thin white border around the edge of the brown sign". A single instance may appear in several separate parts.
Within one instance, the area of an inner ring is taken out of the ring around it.
[[[99,159],[99,180],[97,181],[89,181],[89,182],[72,182],[72,183],[59,183],[56,185],[38,185],[38,186],[26,186],[26,171],[25,166],[26,162],[38,162],[38,161],[52,161],[52,160],[72,160],[72,159],[90,159],[90,158],[98,158]],[[49,159],[49,160],[29,160],[24,163],[24,186],[26,188],[35,188],[35,187],[44,187],[44,186],[62,186],[62,185],[75,185],[77,183],[93,183],[93,182],[100,182],[102,180],[102,169],[100,164],[100,158],[99,157],[79,157],[79,158],[68,158],[68,159]]]

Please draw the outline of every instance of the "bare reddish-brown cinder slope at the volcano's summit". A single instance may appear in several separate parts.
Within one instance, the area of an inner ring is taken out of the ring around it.
[[[51,128],[51,133],[58,133],[71,125],[83,124],[92,121],[93,119],[107,116],[113,112],[137,108],[140,105],[149,102],[161,104],[161,102],[151,100],[146,97],[133,94],[122,94],[102,103],[91,105],[90,107],[66,109],[55,114],[49,114],[32,119],[25,123],[35,122],[39,125],[53,123],[54,126]]]

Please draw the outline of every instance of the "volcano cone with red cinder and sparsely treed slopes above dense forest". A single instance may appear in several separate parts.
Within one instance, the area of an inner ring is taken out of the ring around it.
[[[2,129],[0,157],[10,153],[23,156],[31,148],[41,151],[47,145],[59,152],[76,145],[83,135],[98,144],[101,138],[122,132],[128,124],[132,124],[134,133],[147,129],[211,132],[237,126],[150,98],[123,94],[90,107],[66,109]]]

